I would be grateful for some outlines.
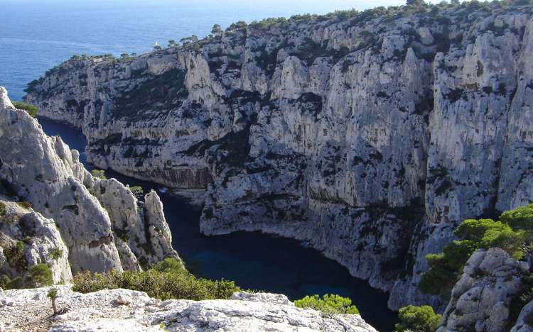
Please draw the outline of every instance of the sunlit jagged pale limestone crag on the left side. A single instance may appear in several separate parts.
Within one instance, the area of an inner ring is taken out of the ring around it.
[[[0,255],[0,270],[10,277],[46,263],[53,280],[65,282],[80,271],[140,270],[147,263],[178,258],[155,192],[142,203],[117,180],[92,177],[79,153],[45,135],[26,111],[15,109],[3,87],[0,202],[3,253],[22,241],[22,261],[27,262],[14,266]]]

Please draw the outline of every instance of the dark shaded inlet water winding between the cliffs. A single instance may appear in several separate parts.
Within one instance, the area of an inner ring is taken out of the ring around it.
[[[39,123],[45,133],[60,135],[70,148],[79,150],[80,160],[87,169],[93,168],[82,153],[86,140],[79,130],[43,118],[39,118]],[[125,177],[111,170],[106,174],[124,184],[140,185],[145,192],[161,188],[158,184]],[[235,280],[244,289],[282,293],[291,300],[308,294],[340,294],[350,297],[365,321],[379,331],[392,331],[397,323],[397,315],[387,309],[387,294],[352,277],[345,267],[325,258],[317,250],[306,248],[297,240],[260,232],[203,236],[198,224],[198,209],[171,194],[158,194],[171,228],[173,247],[194,275]]]

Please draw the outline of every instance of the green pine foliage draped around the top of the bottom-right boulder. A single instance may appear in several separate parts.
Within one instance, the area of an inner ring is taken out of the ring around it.
[[[422,292],[449,297],[453,285],[475,250],[502,248],[520,260],[532,244],[533,204],[507,211],[500,221],[467,219],[456,229],[461,240],[446,245],[443,253],[426,255],[429,270],[419,284]]]

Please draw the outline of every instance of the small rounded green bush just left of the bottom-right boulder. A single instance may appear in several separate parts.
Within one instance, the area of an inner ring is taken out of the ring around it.
[[[441,315],[435,314],[431,306],[404,306],[398,311],[400,323],[394,331],[434,332],[441,321]]]

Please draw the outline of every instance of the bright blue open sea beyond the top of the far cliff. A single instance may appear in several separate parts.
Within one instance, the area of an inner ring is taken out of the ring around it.
[[[73,54],[142,53],[242,20],[366,9],[397,0],[0,0],[0,85],[14,100]]]

